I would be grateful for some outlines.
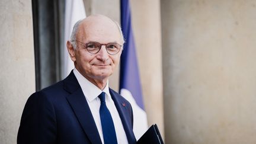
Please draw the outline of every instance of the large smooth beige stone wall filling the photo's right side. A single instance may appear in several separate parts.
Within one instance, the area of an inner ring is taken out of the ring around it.
[[[256,143],[256,1],[161,1],[166,143]]]

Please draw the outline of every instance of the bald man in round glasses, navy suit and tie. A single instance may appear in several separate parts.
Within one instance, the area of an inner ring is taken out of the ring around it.
[[[130,103],[108,88],[123,43],[108,17],[78,21],[66,44],[75,68],[28,98],[17,143],[136,143]]]

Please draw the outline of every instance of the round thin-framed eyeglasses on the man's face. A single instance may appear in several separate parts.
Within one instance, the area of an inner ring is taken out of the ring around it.
[[[82,44],[83,48],[86,48],[89,53],[96,54],[100,52],[101,46],[105,46],[107,53],[110,55],[116,55],[121,49],[121,45],[118,43],[107,43],[102,44],[96,41],[90,41],[89,43],[82,43],[81,41],[76,40],[78,43]]]

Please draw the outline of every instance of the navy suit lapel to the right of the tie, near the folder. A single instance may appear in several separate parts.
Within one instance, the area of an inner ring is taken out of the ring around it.
[[[127,116],[127,103],[126,101],[121,100],[118,97],[121,97],[119,94],[110,89],[110,95],[114,104],[116,105],[117,111],[119,112],[120,119],[123,123],[124,131],[126,132],[127,140],[129,143],[136,142],[135,136],[133,134],[132,123]],[[131,118],[132,119],[132,118]]]

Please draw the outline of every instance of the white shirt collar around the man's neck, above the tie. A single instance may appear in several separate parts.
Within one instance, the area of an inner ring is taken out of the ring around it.
[[[92,100],[97,98],[98,95],[101,94],[101,92],[105,92],[106,93],[106,101],[109,100],[110,92],[109,92],[109,88],[108,88],[108,81],[107,81],[107,84],[105,85],[105,88],[101,91],[100,88],[98,88],[96,85],[92,84],[92,82],[88,81],[88,79],[86,79],[84,76],[82,76],[82,74],[80,72],[78,72],[78,70],[76,68],[73,69],[73,73],[75,74],[76,79],[78,80],[78,83],[79,83],[80,87],[82,88],[82,92],[84,93],[85,98],[87,98],[87,100],[89,102],[91,102]]]

